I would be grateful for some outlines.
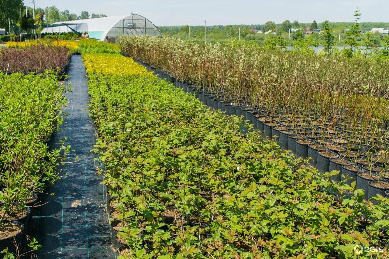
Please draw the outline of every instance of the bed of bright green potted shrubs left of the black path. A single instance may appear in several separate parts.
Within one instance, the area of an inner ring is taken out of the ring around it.
[[[39,249],[28,238],[38,194],[58,179],[56,166],[69,146],[49,150],[50,136],[63,123],[68,89],[57,73],[39,75],[0,71],[0,258],[19,258]]]

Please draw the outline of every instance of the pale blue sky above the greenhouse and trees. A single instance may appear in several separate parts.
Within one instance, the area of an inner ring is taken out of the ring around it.
[[[36,7],[52,5],[77,15],[83,10],[107,16],[134,12],[156,26],[203,25],[204,18],[207,25],[351,22],[356,7],[360,22],[389,22],[389,0],[35,0]]]

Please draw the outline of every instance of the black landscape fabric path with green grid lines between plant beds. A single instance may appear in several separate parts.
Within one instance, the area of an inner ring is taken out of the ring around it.
[[[68,137],[67,145],[80,160],[63,166],[63,176],[42,195],[43,206],[35,209],[30,235],[37,238],[42,248],[38,259],[116,258],[111,249],[110,227],[105,210],[105,186],[96,175],[98,154],[90,153],[96,143],[93,121],[88,117],[88,86],[81,56],[73,55],[68,70],[72,92],[65,109],[66,123],[51,138],[51,147]],[[47,203],[47,204],[45,204]]]

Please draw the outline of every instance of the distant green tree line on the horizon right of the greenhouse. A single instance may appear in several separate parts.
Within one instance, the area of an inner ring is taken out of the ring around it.
[[[381,33],[370,33],[372,28],[388,28],[389,23],[357,23],[359,34],[356,37],[359,46],[386,46],[387,37]],[[207,40],[209,41],[229,41],[252,40],[259,44],[270,44],[277,46],[294,46],[300,49],[303,46],[324,46],[330,35],[333,43],[337,46],[350,45],[348,33],[355,29],[355,22],[350,23],[330,23],[324,21],[317,23],[300,23],[286,20],[283,23],[276,24],[268,21],[263,25],[214,25],[207,26]],[[179,39],[189,39],[189,26],[159,26],[158,29],[165,36]],[[291,30],[295,29],[295,30]],[[306,30],[313,31],[312,34],[306,34]],[[289,30],[291,33],[289,35]],[[265,32],[272,33],[266,34]],[[204,40],[204,26],[190,26],[191,40]]]

